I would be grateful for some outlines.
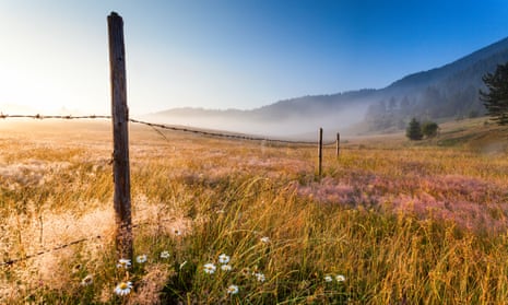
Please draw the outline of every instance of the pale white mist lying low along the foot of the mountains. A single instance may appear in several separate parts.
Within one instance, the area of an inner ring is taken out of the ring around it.
[[[342,110],[326,110],[315,106],[305,113],[286,109],[282,115],[267,110],[204,110],[174,109],[145,116],[145,119],[160,124],[187,128],[211,129],[231,133],[244,133],[260,138],[281,140],[317,139],[319,128],[323,128],[324,139],[335,139],[336,133],[354,134],[353,126],[365,119],[368,105],[361,103],[343,107]]]

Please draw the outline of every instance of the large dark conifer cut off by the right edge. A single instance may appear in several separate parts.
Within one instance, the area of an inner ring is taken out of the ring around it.
[[[498,125],[508,125],[508,62],[497,64],[496,71],[482,78],[488,92],[480,90],[480,99],[487,108],[487,115]]]

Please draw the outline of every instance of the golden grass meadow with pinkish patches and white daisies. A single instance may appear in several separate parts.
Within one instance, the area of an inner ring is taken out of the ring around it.
[[[0,303],[507,304],[506,132],[479,126],[346,139],[320,178],[316,146],[131,125],[128,266],[110,124],[2,120]]]

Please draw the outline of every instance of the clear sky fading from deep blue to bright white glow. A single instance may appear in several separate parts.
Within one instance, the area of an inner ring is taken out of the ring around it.
[[[109,114],[111,11],[134,116],[380,89],[508,36],[506,0],[0,0],[0,110]]]

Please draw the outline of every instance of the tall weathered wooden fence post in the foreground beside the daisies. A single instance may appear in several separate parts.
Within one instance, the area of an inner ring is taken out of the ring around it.
[[[123,20],[116,12],[107,17],[111,81],[113,177],[116,247],[119,258],[132,259],[132,216],[129,169],[129,110],[126,90]]]

